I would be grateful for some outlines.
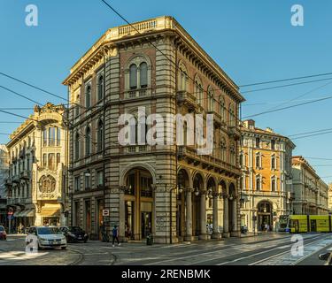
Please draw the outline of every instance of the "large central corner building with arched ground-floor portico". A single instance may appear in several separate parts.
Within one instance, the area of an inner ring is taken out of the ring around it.
[[[64,84],[72,103],[72,225],[93,239],[100,239],[102,223],[108,231],[117,225],[122,241],[149,233],[161,243],[239,235],[236,121],[244,99],[174,18],[109,29]],[[165,120],[169,113],[213,113],[212,155],[166,142],[120,146],[118,119],[138,119],[138,107]]]

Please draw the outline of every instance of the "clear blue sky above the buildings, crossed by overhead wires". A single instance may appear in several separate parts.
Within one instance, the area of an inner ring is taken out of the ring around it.
[[[214,0],[109,1],[130,22],[160,15],[174,16],[238,85],[332,72],[332,2],[329,0]],[[25,7],[39,8],[39,26],[25,25]],[[305,8],[305,27],[290,25],[290,7]],[[109,27],[124,22],[99,0],[0,0],[0,72],[12,74],[66,97],[61,81],[69,68]],[[292,88],[244,94],[243,116],[266,111],[328,81]],[[0,76],[0,85],[38,102],[61,103]],[[244,90],[244,89],[243,89]],[[332,95],[332,83],[301,98]],[[0,108],[33,107],[0,89]],[[255,104],[256,105],[250,105]],[[245,104],[248,104],[245,106]],[[330,126],[332,100],[259,116],[257,125],[280,134],[297,134]],[[30,111],[15,111],[28,115]],[[1,121],[21,121],[0,113]],[[1,133],[18,124],[0,123]],[[332,158],[332,134],[294,140],[294,154]],[[0,134],[0,142],[8,137]],[[312,164],[332,164],[311,160]],[[316,167],[320,176],[332,175],[332,166]],[[332,178],[325,179],[326,181]]]

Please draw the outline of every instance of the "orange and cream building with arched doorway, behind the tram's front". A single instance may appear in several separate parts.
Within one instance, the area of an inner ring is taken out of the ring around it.
[[[291,157],[295,145],[270,128],[255,126],[254,120],[244,121],[241,132],[242,225],[250,232],[265,225],[276,230],[280,216],[293,210]]]

